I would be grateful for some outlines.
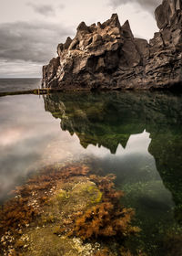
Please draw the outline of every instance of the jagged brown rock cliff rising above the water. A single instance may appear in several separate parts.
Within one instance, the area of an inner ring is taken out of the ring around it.
[[[43,87],[63,90],[166,89],[182,82],[182,0],[163,0],[155,16],[159,32],[149,43],[133,36],[116,14],[57,47],[43,67]]]

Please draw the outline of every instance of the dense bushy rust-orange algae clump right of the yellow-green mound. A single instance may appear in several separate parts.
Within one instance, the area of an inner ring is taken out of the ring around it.
[[[127,237],[139,229],[130,225],[134,216],[132,209],[117,210],[112,203],[102,203],[86,210],[76,219],[73,234],[82,240],[97,237]]]

